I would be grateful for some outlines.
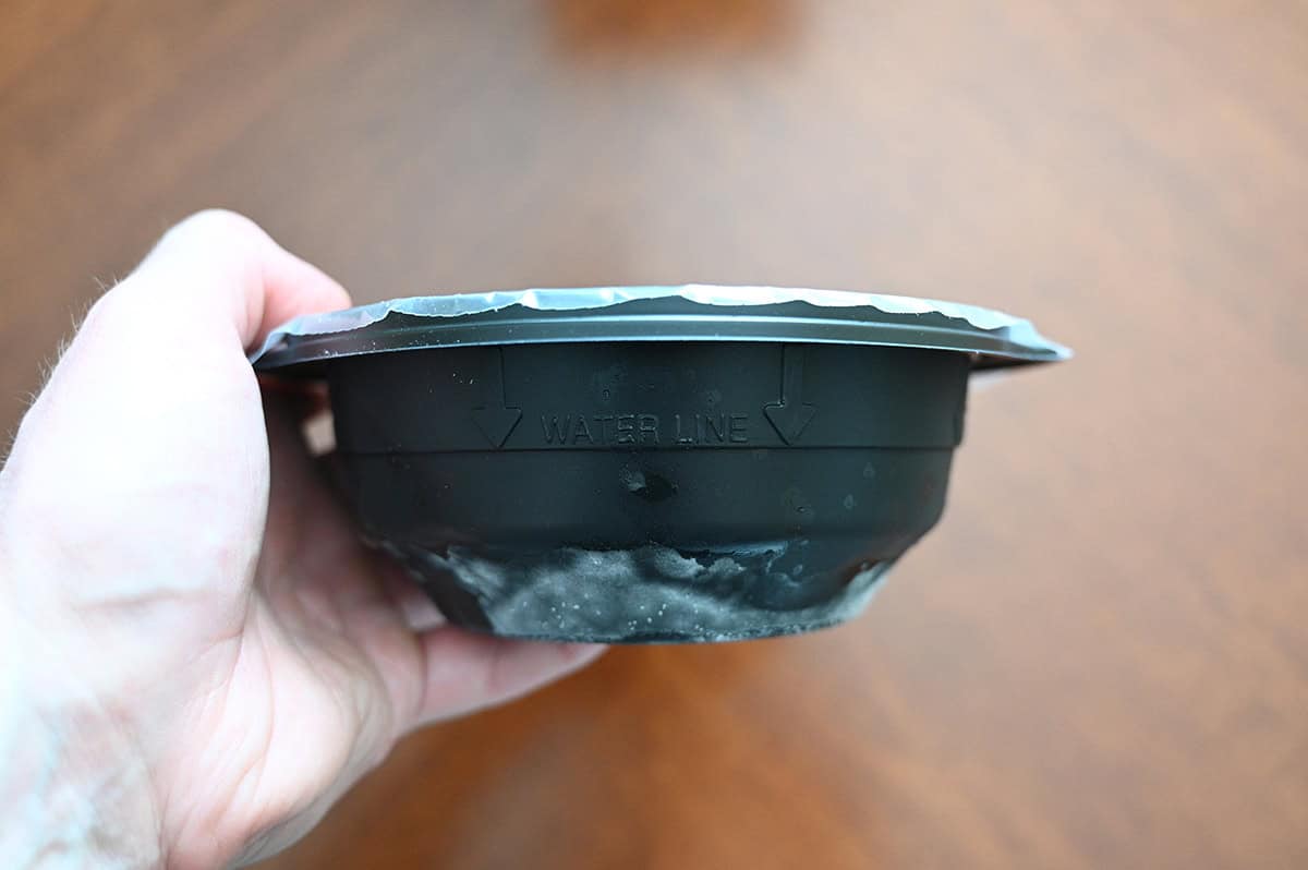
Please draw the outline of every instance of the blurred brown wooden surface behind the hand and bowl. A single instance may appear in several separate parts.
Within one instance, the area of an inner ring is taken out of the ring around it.
[[[863,618],[613,650],[266,867],[1308,866],[1303,3],[0,0],[0,203],[4,432],[209,205],[361,302],[797,284],[1079,352],[973,396]]]

